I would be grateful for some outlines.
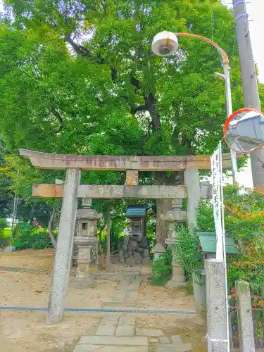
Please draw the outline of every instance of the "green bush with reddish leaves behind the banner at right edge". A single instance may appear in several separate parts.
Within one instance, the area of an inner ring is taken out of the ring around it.
[[[228,260],[229,287],[244,279],[254,294],[264,287],[264,196],[252,189],[227,186],[225,196],[225,231],[234,239],[239,255]],[[215,232],[212,204],[201,201],[198,211],[199,230]]]

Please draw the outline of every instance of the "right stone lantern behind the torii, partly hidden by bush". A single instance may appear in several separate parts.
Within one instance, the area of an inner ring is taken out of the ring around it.
[[[185,287],[184,268],[177,259],[177,232],[175,231],[175,222],[186,221],[186,212],[182,210],[182,199],[172,200],[172,210],[169,210],[166,215],[161,215],[161,218],[169,224],[169,237],[165,239],[165,243],[171,245],[172,249],[172,279],[165,284],[165,287],[168,289]]]

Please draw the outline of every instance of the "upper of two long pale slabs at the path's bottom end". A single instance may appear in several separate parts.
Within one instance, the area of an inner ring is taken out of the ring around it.
[[[79,345],[148,346],[147,337],[82,336]]]

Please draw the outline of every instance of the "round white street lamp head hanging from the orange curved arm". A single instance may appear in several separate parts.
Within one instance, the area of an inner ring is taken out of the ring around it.
[[[153,38],[152,51],[158,56],[171,56],[178,49],[178,39],[175,33],[163,31]]]

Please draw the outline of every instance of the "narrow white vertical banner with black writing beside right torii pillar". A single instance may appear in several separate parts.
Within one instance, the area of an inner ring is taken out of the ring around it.
[[[213,183],[213,216],[215,220],[216,232],[216,259],[223,260],[222,248],[222,165],[221,165],[221,144],[215,149],[215,152],[210,157],[212,169],[212,183]]]

